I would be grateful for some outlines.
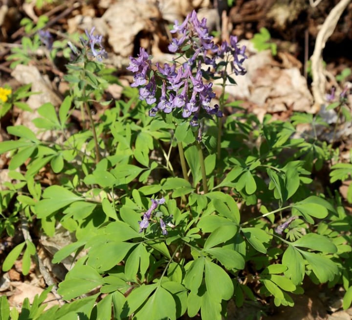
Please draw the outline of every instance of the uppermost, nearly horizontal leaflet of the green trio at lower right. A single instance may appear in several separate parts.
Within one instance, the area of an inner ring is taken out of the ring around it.
[[[304,247],[315,251],[326,253],[336,253],[337,248],[331,240],[323,235],[316,233],[308,233],[291,243],[294,247]]]

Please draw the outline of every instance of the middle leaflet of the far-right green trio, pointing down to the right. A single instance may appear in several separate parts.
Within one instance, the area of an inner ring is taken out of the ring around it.
[[[306,258],[314,274],[321,283],[332,281],[335,274],[339,273],[337,264],[329,258],[317,253],[306,251],[301,251],[301,253]]]

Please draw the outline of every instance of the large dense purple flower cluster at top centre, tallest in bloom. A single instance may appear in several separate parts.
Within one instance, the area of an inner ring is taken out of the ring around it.
[[[213,84],[203,81],[204,76],[214,73],[210,72],[210,68],[203,70],[201,65],[216,66],[215,57],[207,57],[209,51],[218,57],[231,53],[234,56],[233,71],[236,74],[244,74],[242,63],[246,58],[245,47],[240,49],[237,46],[236,37],[231,38],[230,46],[227,43],[221,47],[215,45],[206,27],[206,19],[198,21],[195,11],[189,14],[182,24],[175,22],[171,32],[178,32],[180,38],[173,39],[169,50],[181,50],[186,61],[178,68],[175,61],[171,65],[163,66],[157,63],[155,68],[152,68],[148,53],[141,48],[137,58],[130,58],[131,63],[127,68],[134,73],[131,86],[140,87],[141,100],[150,105],[156,103],[149,111],[150,116],[154,116],[158,111],[169,114],[176,110],[183,118],[190,120],[191,126],[198,126],[198,120],[204,113],[221,117],[219,106],[210,103],[215,97]]]

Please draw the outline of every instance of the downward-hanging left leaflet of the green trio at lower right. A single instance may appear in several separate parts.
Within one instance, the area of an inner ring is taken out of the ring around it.
[[[283,255],[283,265],[287,267],[285,274],[292,280],[293,284],[299,285],[305,275],[305,262],[299,251],[288,246]]]

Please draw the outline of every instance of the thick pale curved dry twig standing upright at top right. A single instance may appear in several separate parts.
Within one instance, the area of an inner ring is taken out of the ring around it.
[[[312,112],[318,112],[320,107],[325,104],[325,83],[326,79],[323,72],[322,52],[326,42],[333,33],[336,24],[341,17],[343,11],[351,0],[341,0],[332,8],[330,14],[323,23],[317,35],[314,52],[311,56],[311,70],[312,70],[312,93],[314,97],[314,106]]]

